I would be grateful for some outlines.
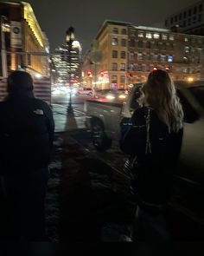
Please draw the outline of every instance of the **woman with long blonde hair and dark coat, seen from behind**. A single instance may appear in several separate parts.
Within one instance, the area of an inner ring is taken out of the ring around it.
[[[134,240],[169,240],[165,204],[182,147],[183,111],[166,71],[150,72],[130,121],[121,121],[120,148],[137,157],[132,188],[137,198]],[[124,123],[125,122],[125,123]]]

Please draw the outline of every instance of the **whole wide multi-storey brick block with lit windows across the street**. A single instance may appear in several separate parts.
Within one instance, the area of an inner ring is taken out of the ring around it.
[[[128,89],[153,69],[167,70],[174,80],[200,80],[203,43],[204,36],[106,20],[84,56],[83,81],[98,89]]]

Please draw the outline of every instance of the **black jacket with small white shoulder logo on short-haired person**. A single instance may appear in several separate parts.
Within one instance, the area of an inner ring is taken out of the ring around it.
[[[54,119],[46,102],[10,95],[0,102],[0,173],[35,171],[48,166]]]

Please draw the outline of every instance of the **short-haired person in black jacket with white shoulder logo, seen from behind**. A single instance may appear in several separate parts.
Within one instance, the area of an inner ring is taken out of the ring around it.
[[[0,102],[0,240],[47,240],[44,200],[54,119],[33,89],[29,73],[13,71],[9,95]]]

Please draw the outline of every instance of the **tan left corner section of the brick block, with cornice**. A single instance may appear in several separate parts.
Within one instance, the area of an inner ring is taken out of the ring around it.
[[[83,59],[84,86],[95,89],[125,87],[130,25],[109,20],[102,24]]]

